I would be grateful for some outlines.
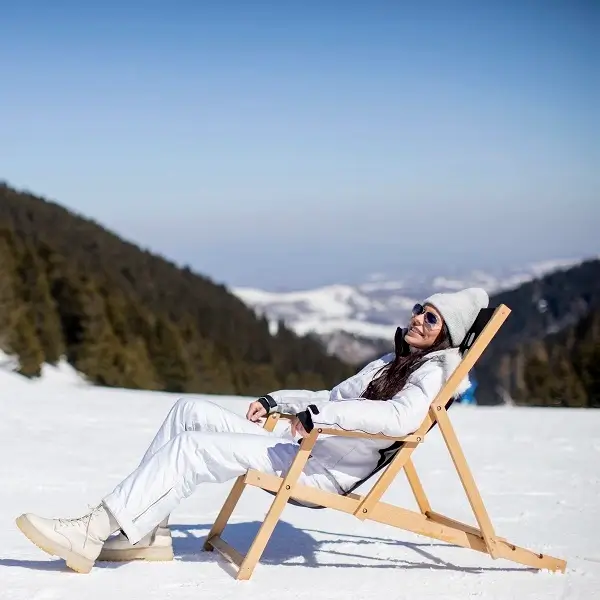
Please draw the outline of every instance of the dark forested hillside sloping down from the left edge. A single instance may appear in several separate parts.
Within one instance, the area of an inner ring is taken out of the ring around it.
[[[352,369],[224,286],[0,183],[0,348],[21,371],[65,356],[106,386],[263,394]]]

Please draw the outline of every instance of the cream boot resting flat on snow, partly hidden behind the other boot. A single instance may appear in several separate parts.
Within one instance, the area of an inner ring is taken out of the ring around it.
[[[137,544],[132,544],[120,532],[104,542],[98,559],[101,561],[122,562],[128,560],[173,560],[173,539],[171,530],[163,521],[158,527],[144,536]]]

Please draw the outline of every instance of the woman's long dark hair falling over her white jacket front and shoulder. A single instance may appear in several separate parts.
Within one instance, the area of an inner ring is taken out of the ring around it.
[[[396,357],[382,367],[371,380],[362,398],[370,400],[389,400],[393,398],[405,385],[411,373],[416,371],[426,360],[427,355],[438,350],[450,348],[450,333],[444,323],[435,342],[425,350],[411,351],[404,340],[406,330],[398,329],[395,339]]]

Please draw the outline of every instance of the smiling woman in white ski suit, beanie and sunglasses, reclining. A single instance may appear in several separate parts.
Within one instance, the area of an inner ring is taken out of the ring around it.
[[[87,573],[100,560],[173,558],[169,514],[200,483],[221,483],[248,469],[282,475],[314,426],[401,437],[422,423],[460,362],[458,347],[488,296],[479,288],[434,294],[416,305],[396,351],[331,391],[281,390],[250,404],[246,419],[204,400],[175,403],[138,468],[78,519],[24,514],[21,531],[42,550]],[[456,394],[469,387],[462,382]],[[296,415],[290,437],[265,431],[269,412]],[[299,482],[343,493],[377,466],[386,440],[327,436],[314,446]],[[120,534],[108,539],[111,534]]]

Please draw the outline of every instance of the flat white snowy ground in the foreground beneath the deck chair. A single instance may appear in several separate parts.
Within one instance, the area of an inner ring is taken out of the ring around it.
[[[250,581],[201,551],[230,484],[172,515],[176,560],[66,569],[16,528],[22,512],[78,516],[133,469],[176,396],[96,388],[67,366],[0,369],[0,598],[589,600],[600,589],[600,411],[455,406],[451,417],[499,536],[568,561],[534,572],[331,510],[289,506]],[[248,399],[212,397],[243,414]],[[434,510],[475,524],[439,432],[414,454]],[[384,499],[415,508],[404,477]],[[247,549],[272,497],[248,489],[224,537]]]

